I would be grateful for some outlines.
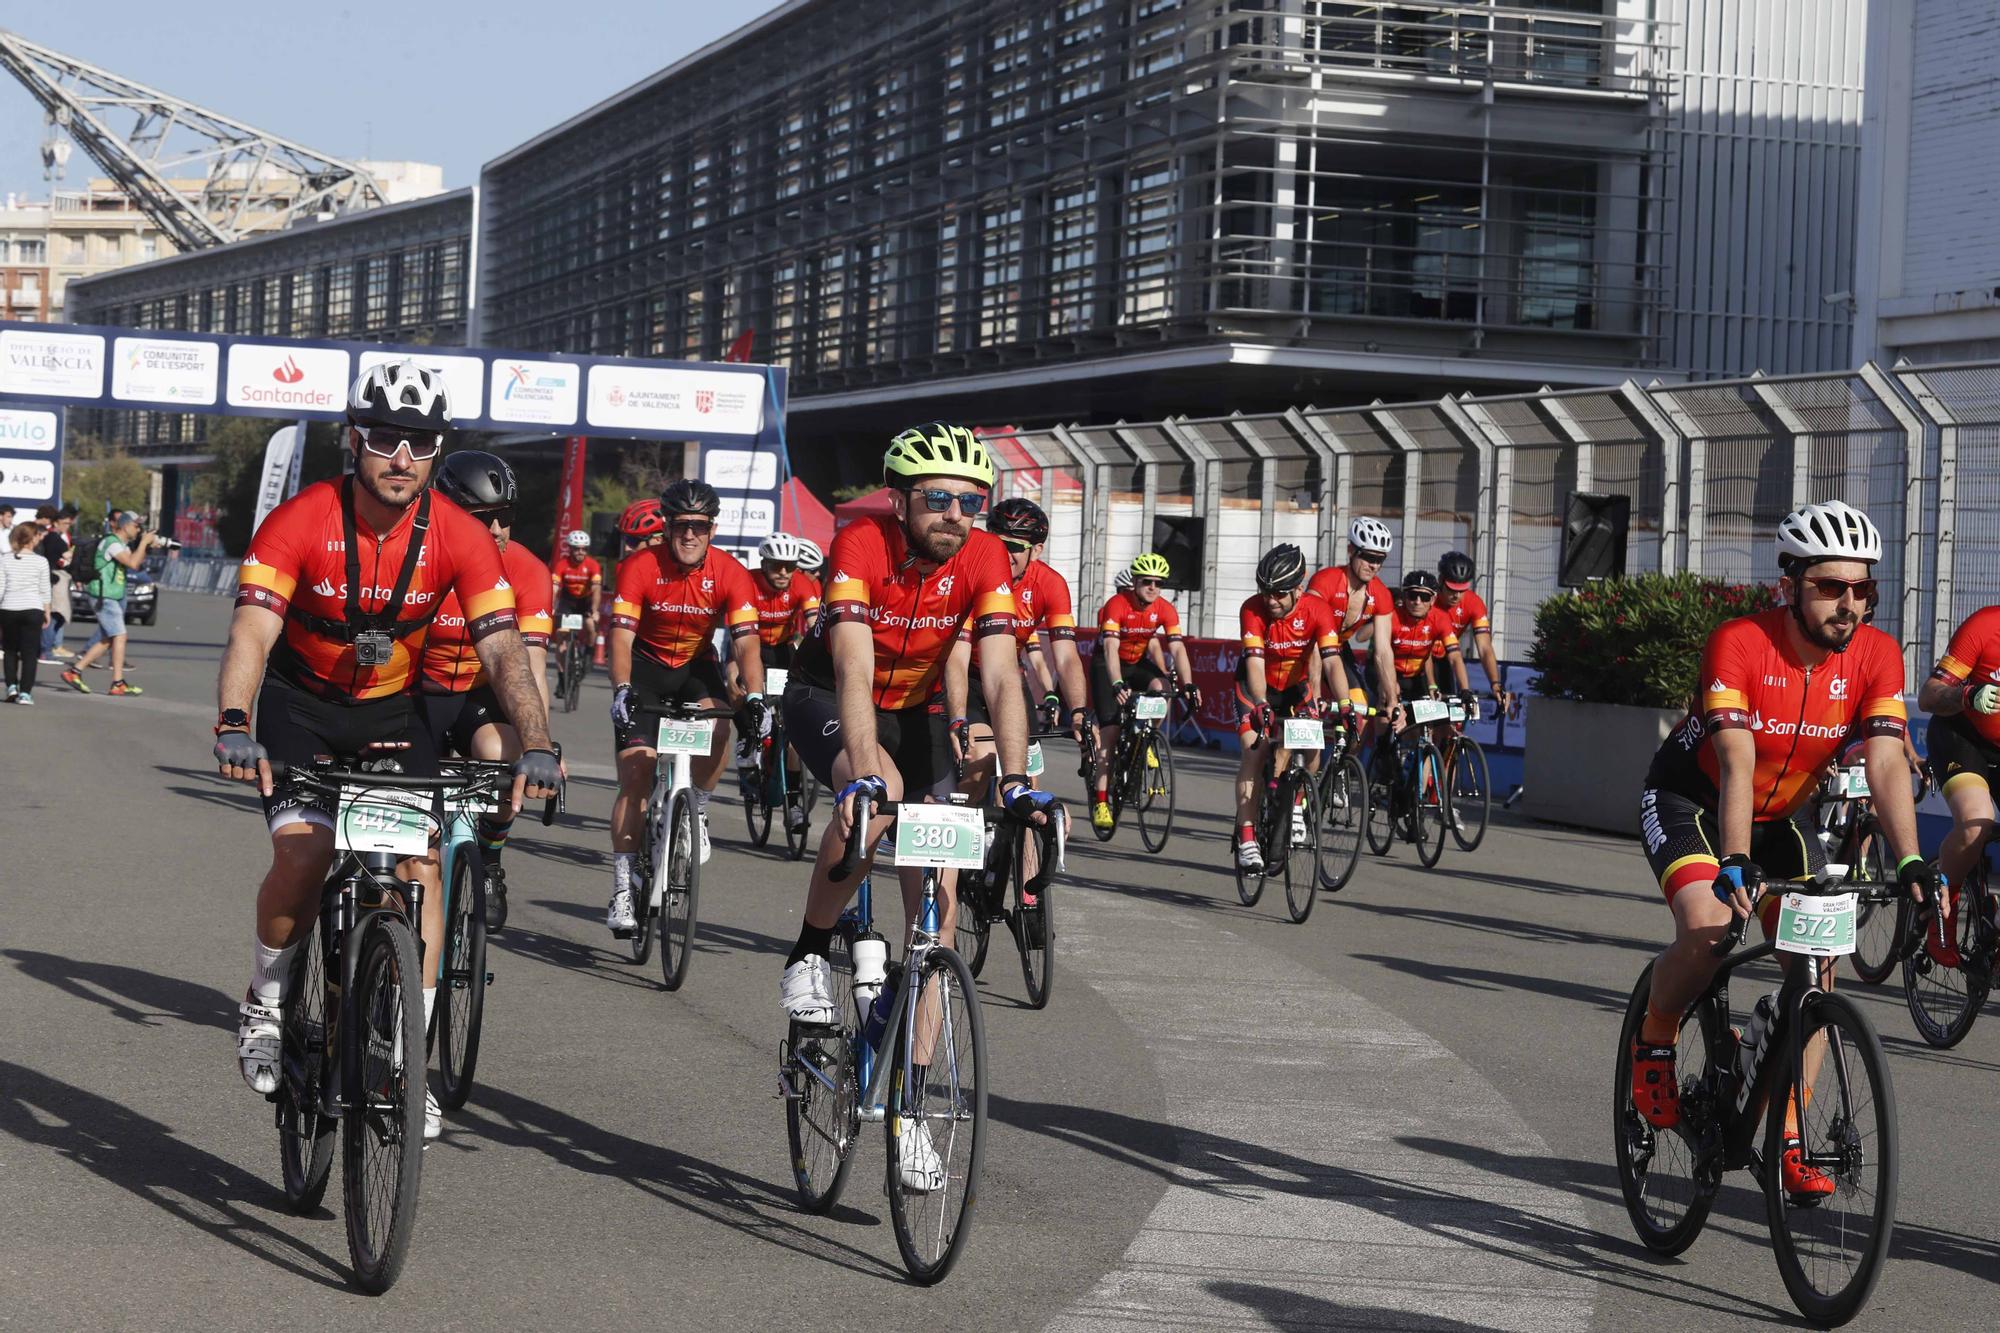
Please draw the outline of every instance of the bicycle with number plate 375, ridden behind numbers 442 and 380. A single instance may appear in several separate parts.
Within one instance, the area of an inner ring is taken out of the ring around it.
[[[662,707],[652,795],[646,823],[632,857],[632,961],[652,957],[652,933],[660,929],[660,981],[678,991],[694,961],[694,927],[702,891],[702,821],[694,801],[694,759],[714,749],[716,723],[734,717],[730,709]]]

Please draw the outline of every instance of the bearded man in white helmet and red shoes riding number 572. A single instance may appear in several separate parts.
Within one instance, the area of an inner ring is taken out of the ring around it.
[[[1652,967],[1652,999],[1632,1047],[1632,1103],[1656,1127],[1680,1123],[1674,1043],[1688,1005],[1716,971],[1716,943],[1752,913],[1766,875],[1804,881],[1826,865],[1794,821],[1824,765],[1862,743],[1876,817],[1896,881],[1934,891],[1916,845],[1916,803],[1902,757],[1902,650],[1862,624],[1882,536],[1856,508],[1808,504],[1778,524],[1786,604],[1728,620],[1702,650],[1700,707],[1660,745],[1640,797],[1646,861],[1674,913],[1674,943]],[[1764,929],[1778,895],[1764,903]],[[1780,955],[1794,967],[1794,955]],[[1828,985],[1830,969],[1828,969]],[[1810,1085],[1824,1043],[1806,1049]],[[1784,1189],[1822,1199],[1834,1179],[1806,1165],[1796,1125],[1782,1155]]]

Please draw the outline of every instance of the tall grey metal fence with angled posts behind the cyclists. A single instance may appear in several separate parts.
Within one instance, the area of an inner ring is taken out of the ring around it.
[[[1572,490],[1632,498],[1628,572],[1736,582],[1776,578],[1786,510],[1864,508],[1886,542],[1876,624],[1902,640],[1912,687],[1960,620],[2000,600],[2000,362],[1056,426],[1014,442],[1000,488],[1050,510],[1050,558],[1080,572],[1084,614],[1152,544],[1154,518],[1206,518],[1200,588],[1182,596],[1196,634],[1236,632],[1274,542],[1332,564],[1348,522],[1374,514],[1398,538],[1390,574],[1470,552],[1496,650],[1518,658],[1556,592]]]

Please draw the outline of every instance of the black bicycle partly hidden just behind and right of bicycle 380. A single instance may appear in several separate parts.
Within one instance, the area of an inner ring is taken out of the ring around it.
[[[1026,769],[1030,781],[1044,773],[1042,741],[1066,735],[1062,731],[1030,735]],[[964,781],[962,765],[960,781]],[[992,791],[992,797],[998,801],[998,791]],[[996,805],[982,867],[958,879],[958,957],[978,977],[986,969],[992,929],[1004,925],[1020,951],[1020,975],[1028,987],[1030,1009],[1048,1007],[1056,977],[1054,877],[1056,871],[1064,869],[1066,835],[1066,813],[1036,825],[1014,819]],[[1030,841],[1034,845],[1032,875],[1028,873]]]

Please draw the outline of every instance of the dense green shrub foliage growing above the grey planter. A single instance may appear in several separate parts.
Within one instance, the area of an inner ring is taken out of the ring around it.
[[[1684,709],[1708,634],[1724,620],[1774,604],[1766,586],[1700,574],[1610,578],[1558,592],[1534,608],[1528,662],[1542,673],[1544,695]]]

